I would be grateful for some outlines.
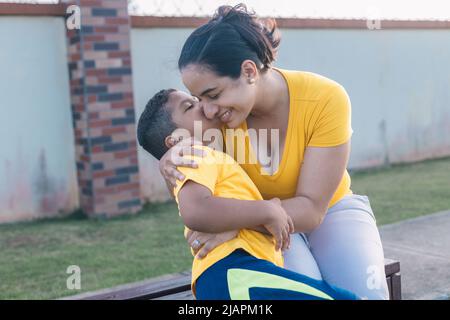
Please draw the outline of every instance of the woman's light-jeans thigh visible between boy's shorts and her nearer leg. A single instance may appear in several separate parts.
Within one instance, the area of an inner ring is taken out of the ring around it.
[[[319,267],[304,237],[300,233],[291,234],[291,246],[289,250],[283,252],[284,268],[313,279],[322,280]]]

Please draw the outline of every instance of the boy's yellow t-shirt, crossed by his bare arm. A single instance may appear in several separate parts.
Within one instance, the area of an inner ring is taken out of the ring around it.
[[[178,170],[185,175],[183,181],[177,181],[177,186],[174,189],[175,199],[178,204],[178,193],[184,183],[189,180],[207,187],[212,195],[216,197],[262,200],[262,196],[255,184],[233,158],[206,146],[196,146],[195,148],[205,150],[206,157],[185,156],[186,158],[194,159],[198,163],[198,168],[178,167]],[[245,212],[242,212],[242,214],[245,214]],[[185,232],[187,230],[185,228]],[[194,258],[192,264],[192,289],[194,293],[195,281],[202,272],[236,249],[244,249],[258,259],[264,259],[278,266],[283,266],[282,253],[275,250],[275,240],[272,236],[242,229],[236,238],[219,245],[203,259]]]

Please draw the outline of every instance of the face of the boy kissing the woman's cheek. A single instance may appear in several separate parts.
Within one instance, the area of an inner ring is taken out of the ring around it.
[[[172,115],[172,121],[178,128],[183,128],[194,135],[194,123],[201,123],[202,134],[208,129],[220,129],[222,123],[218,117],[208,119],[203,114],[198,100],[183,91],[174,91],[170,94],[166,108]],[[198,130],[198,129],[197,129]]]

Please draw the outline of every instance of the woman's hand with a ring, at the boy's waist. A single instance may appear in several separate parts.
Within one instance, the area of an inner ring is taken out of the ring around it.
[[[227,231],[222,233],[204,233],[189,230],[186,234],[186,240],[189,246],[194,250],[196,258],[202,259],[214,248],[236,238],[239,230]]]

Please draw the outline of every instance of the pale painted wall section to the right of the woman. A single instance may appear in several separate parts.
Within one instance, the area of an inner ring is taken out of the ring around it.
[[[284,30],[278,65],[341,83],[350,168],[450,155],[450,30]]]

